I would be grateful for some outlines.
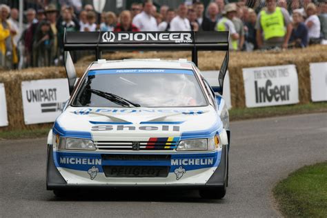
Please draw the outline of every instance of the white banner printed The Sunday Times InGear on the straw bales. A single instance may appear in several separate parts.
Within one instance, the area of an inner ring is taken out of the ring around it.
[[[248,108],[299,103],[295,65],[244,68],[243,78]]]

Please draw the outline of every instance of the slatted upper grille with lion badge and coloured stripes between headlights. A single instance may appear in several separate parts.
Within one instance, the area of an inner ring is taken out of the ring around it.
[[[173,150],[178,142],[179,137],[152,137],[149,141],[95,141],[95,146],[99,150]]]

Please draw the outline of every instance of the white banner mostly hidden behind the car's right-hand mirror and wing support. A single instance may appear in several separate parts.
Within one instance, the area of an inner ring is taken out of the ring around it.
[[[208,81],[210,86],[219,86],[218,75],[219,70],[212,70],[212,71],[201,71],[204,78]],[[232,101],[230,99],[230,81],[229,81],[229,73],[227,71],[225,80],[224,80],[224,90],[223,90],[223,97],[226,101],[226,106],[228,109],[232,108]]]

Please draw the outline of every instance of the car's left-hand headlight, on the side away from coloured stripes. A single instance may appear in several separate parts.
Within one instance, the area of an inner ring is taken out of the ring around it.
[[[95,144],[88,139],[60,138],[59,149],[95,150]]]

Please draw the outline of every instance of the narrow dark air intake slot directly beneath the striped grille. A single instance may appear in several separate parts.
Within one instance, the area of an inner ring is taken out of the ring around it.
[[[103,161],[170,161],[171,155],[101,155]]]

